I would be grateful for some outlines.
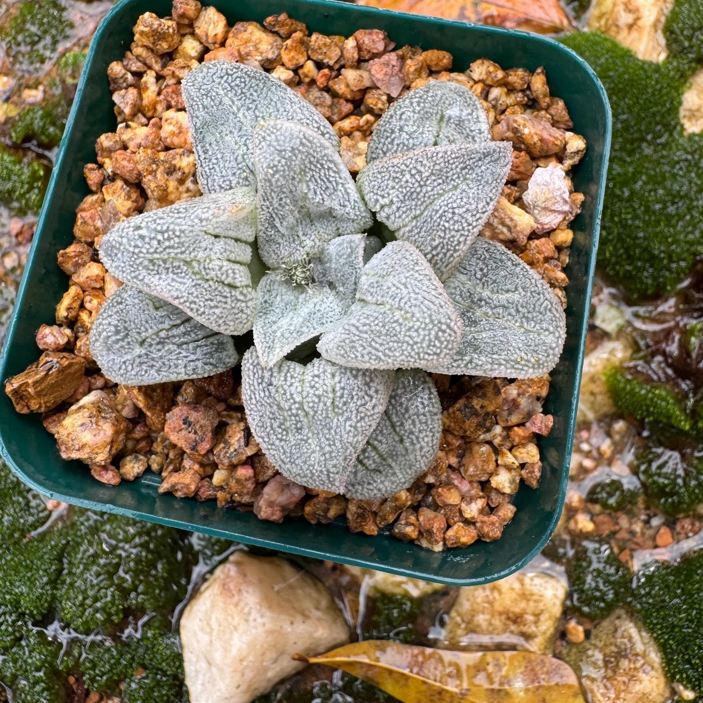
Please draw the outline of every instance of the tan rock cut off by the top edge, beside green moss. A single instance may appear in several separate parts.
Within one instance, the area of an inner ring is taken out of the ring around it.
[[[617,39],[639,58],[666,58],[664,22],[673,0],[595,0],[588,15],[588,29]]]

